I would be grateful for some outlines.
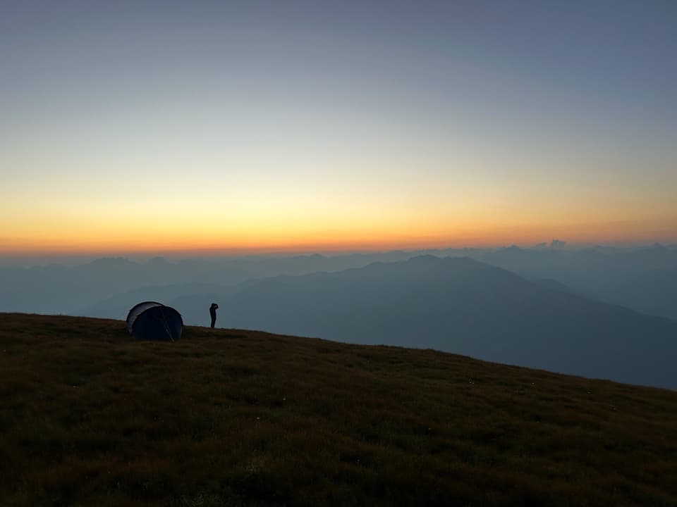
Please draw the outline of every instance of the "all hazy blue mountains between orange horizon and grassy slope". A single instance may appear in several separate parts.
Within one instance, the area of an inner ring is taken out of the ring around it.
[[[123,319],[150,299],[177,308],[186,324],[207,325],[209,303],[218,301],[221,327],[434,348],[677,388],[676,249],[432,253],[0,268],[0,311]]]

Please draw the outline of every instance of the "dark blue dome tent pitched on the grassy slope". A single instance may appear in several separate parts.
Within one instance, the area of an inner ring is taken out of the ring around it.
[[[127,330],[136,339],[174,342],[181,338],[183,319],[170,306],[156,301],[144,301],[127,314]]]

